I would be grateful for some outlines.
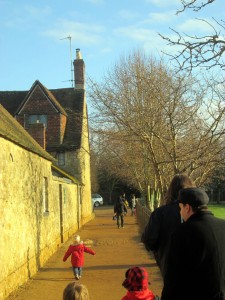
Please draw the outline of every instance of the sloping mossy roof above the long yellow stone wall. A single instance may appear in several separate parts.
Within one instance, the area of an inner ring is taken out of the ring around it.
[[[36,153],[50,161],[55,159],[46,152],[14,119],[11,114],[0,104],[0,136],[21,146],[22,148]]]

